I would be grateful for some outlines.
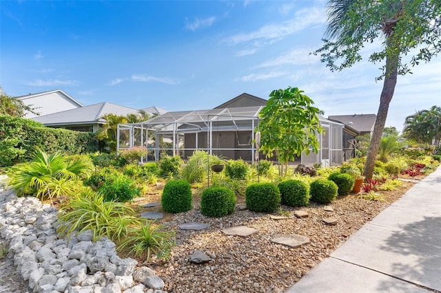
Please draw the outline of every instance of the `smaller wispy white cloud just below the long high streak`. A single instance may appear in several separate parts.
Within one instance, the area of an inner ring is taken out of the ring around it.
[[[309,65],[320,62],[319,56],[310,55],[311,50],[296,49],[266,61],[257,67],[273,67],[280,65]]]

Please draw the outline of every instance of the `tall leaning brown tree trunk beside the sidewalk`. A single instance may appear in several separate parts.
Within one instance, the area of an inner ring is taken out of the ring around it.
[[[392,34],[387,37],[387,47],[392,48]],[[389,103],[393,97],[393,91],[397,83],[398,76],[398,63],[400,60],[398,48],[393,48],[393,54],[386,57],[386,72],[384,76],[383,89],[380,96],[380,106],[378,107],[377,119],[375,126],[373,127],[373,133],[371,138],[371,144],[367,152],[367,158],[365,163],[365,169],[363,175],[367,179],[372,179],[373,167],[375,166],[375,160],[378,154],[378,148],[382,133],[384,130],[384,124],[386,124],[387,111],[389,111]]]

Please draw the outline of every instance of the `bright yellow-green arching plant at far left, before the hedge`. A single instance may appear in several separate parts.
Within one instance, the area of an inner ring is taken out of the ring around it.
[[[10,167],[8,184],[17,195],[34,195],[39,199],[72,195],[78,186],[76,180],[90,173],[92,165],[81,160],[68,160],[61,153],[47,154],[40,149],[32,161]]]

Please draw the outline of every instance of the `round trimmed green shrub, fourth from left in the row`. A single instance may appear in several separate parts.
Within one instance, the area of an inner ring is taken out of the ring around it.
[[[307,206],[309,204],[309,189],[300,180],[286,180],[278,184],[282,204],[286,206]]]

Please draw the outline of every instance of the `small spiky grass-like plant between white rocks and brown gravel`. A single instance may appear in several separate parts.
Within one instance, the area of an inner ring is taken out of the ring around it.
[[[175,245],[174,231],[166,230],[166,226],[156,224],[154,221],[141,221],[139,226],[130,226],[127,237],[121,241],[119,250],[127,250],[136,257],[144,257],[149,261],[153,254],[162,259],[170,257],[170,252]]]

